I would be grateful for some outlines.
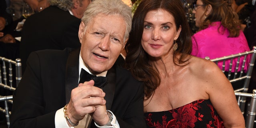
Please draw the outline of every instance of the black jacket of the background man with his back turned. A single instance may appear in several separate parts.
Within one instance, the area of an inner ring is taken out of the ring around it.
[[[22,28],[20,58],[22,71],[31,52],[44,49],[63,50],[79,48],[78,30],[81,19],[57,6],[49,6],[42,12],[28,17]]]

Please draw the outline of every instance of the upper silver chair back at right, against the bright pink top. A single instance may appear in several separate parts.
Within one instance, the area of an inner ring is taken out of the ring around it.
[[[247,59],[248,57],[250,59]],[[240,66],[240,62],[241,62],[240,58],[244,58],[242,61],[242,66]],[[256,58],[256,46],[254,46],[251,51],[246,51],[246,52],[242,52],[242,53],[238,53],[238,54],[232,54],[229,56],[223,56],[220,58],[210,59],[207,56],[205,57],[205,59],[211,60],[212,62],[215,62],[217,65],[221,63],[222,64],[222,69],[221,69],[222,72],[225,72],[225,67],[229,66],[227,78],[232,84],[239,82],[241,80],[244,80],[243,84],[240,86],[242,88],[238,88],[238,89],[234,90],[234,92],[243,92],[243,93],[248,92],[248,86],[250,83],[255,58]],[[230,60],[230,63],[228,65],[226,64],[227,60]],[[245,67],[245,64],[247,64],[247,63],[248,63],[247,72],[244,73],[244,67]],[[236,64],[235,72],[231,72],[233,64]],[[234,73],[234,77],[231,77],[231,73]],[[242,97],[241,103],[240,103],[240,109],[243,114],[244,114],[245,104],[246,104],[246,97]]]

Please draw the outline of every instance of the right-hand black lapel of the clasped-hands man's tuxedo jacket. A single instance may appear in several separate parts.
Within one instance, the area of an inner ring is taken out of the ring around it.
[[[108,70],[106,77],[108,77],[108,83],[102,88],[102,90],[106,93],[106,96],[104,97],[104,99],[106,100],[106,108],[107,110],[110,110],[116,89],[115,65],[110,68],[110,70]]]

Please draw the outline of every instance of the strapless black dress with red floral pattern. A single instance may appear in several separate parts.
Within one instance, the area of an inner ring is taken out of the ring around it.
[[[197,100],[162,112],[146,112],[148,128],[224,128],[210,100]]]

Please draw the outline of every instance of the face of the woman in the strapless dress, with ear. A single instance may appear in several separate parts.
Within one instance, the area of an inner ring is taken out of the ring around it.
[[[178,39],[181,27],[176,31],[172,14],[166,10],[152,10],[144,19],[141,39],[143,49],[152,57],[170,56],[173,42]]]

